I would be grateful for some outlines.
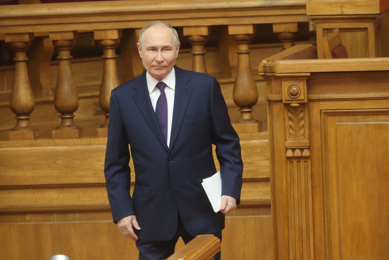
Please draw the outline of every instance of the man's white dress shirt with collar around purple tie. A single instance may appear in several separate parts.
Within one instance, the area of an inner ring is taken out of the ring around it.
[[[147,81],[147,88],[149,89],[150,99],[152,108],[154,108],[157,105],[157,100],[159,95],[161,94],[161,90],[159,90],[156,85],[159,82],[155,78],[153,78],[148,72],[146,72],[146,81]],[[172,119],[173,119],[173,106],[174,106],[174,92],[175,92],[175,71],[174,67],[172,71],[170,71],[169,74],[166,75],[163,80],[161,80],[163,83],[166,84],[165,87],[165,94],[166,99],[168,101],[168,138],[167,138],[167,145],[169,147],[170,143],[170,132],[172,131]]]

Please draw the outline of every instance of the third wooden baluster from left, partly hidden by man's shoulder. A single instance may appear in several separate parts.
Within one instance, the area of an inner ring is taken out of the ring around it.
[[[95,30],[95,40],[103,49],[103,79],[100,85],[99,104],[105,111],[105,123],[97,129],[98,137],[108,136],[109,122],[109,99],[111,90],[120,85],[117,76],[115,49],[119,45],[120,38],[123,36],[121,29],[117,30]]]

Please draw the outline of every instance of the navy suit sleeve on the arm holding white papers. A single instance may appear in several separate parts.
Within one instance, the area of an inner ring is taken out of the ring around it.
[[[210,87],[211,142],[216,145],[216,156],[220,163],[222,195],[237,199],[240,203],[243,162],[238,134],[231,126],[226,101],[216,78]]]

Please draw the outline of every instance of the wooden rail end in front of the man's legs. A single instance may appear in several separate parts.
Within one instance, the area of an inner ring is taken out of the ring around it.
[[[205,260],[220,251],[220,239],[214,235],[198,235],[167,260]]]

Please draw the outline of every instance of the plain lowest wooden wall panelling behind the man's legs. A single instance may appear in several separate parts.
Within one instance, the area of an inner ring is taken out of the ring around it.
[[[227,217],[222,259],[271,260],[272,237],[270,216]],[[176,249],[182,246],[180,239]],[[110,220],[0,224],[0,251],[2,259],[138,259],[135,243]]]

